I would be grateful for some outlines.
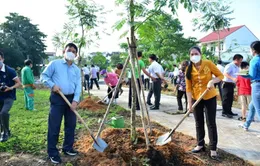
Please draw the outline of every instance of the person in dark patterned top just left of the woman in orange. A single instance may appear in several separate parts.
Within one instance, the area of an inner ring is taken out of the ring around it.
[[[188,66],[188,61],[183,61],[181,63],[181,67],[179,70],[179,75],[177,76],[176,80],[176,87],[177,87],[177,102],[178,102],[178,112],[179,113],[186,113],[187,112],[187,95],[186,95],[186,83],[185,83],[185,70]],[[182,96],[184,95],[186,101],[186,110],[183,111],[182,106]]]

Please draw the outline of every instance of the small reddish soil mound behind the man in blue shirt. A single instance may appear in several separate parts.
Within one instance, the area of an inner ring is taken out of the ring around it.
[[[80,109],[87,109],[89,111],[100,111],[106,109],[106,105],[103,103],[97,103],[100,99],[87,97],[79,103]]]

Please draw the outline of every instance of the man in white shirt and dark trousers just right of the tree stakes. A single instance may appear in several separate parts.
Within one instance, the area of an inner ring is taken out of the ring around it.
[[[163,68],[159,63],[156,62],[156,60],[157,60],[156,55],[151,54],[149,56],[149,62],[151,63],[151,65],[149,66],[148,71],[151,74],[151,76],[153,78],[155,78],[152,83],[152,92],[154,93],[155,101],[154,101],[154,106],[152,106],[150,108],[151,110],[159,109],[160,100],[161,100],[161,84],[162,84],[162,81],[165,82],[165,79],[163,77],[163,75],[164,75]],[[149,93],[150,93],[150,91],[149,91]],[[148,94],[147,103],[151,103],[151,101],[150,101],[151,95],[152,94],[150,94],[150,95]]]

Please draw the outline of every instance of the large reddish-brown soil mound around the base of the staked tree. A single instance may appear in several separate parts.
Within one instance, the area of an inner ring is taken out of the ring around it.
[[[150,136],[151,146],[146,149],[143,131],[138,130],[137,144],[130,141],[129,129],[106,129],[101,137],[109,144],[107,149],[100,153],[92,148],[89,136],[82,136],[76,142],[76,148],[83,154],[79,165],[204,165],[194,156],[185,153],[184,149],[174,142],[164,146],[156,146],[158,136],[163,133],[153,130]]]

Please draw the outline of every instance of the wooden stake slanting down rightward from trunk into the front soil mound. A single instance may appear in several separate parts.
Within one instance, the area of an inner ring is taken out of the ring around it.
[[[132,50],[132,46],[130,45],[129,38],[127,38],[127,42],[128,42],[129,47],[130,47],[130,49],[129,49],[130,55],[136,54],[136,52],[133,52],[133,50]],[[139,86],[138,86],[137,81],[136,81],[137,79],[136,79],[136,76],[134,74],[135,73],[135,69],[134,69],[134,64],[132,63],[133,62],[133,57],[132,56],[130,56],[130,62],[131,62],[130,63],[130,65],[131,65],[131,72],[133,73],[132,76],[134,77],[134,86],[135,86],[136,92],[137,92],[137,99],[138,99],[138,102],[139,102],[140,108],[141,108],[141,120],[142,120],[142,124],[143,124],[143,128],[144,128],[144,136],[145,136],[146,147],[148,149],[150,143],[149,143],[149,138],[148,138],[148,134],[147,134],[147,131],[146,131],[147,128],[146,128],[146,124],[145,124],[145,120],[144,120],[144,108],[143,108],[141,97],[140,97]],[[132,107],[134,107],[134,106],[132,106]]]

